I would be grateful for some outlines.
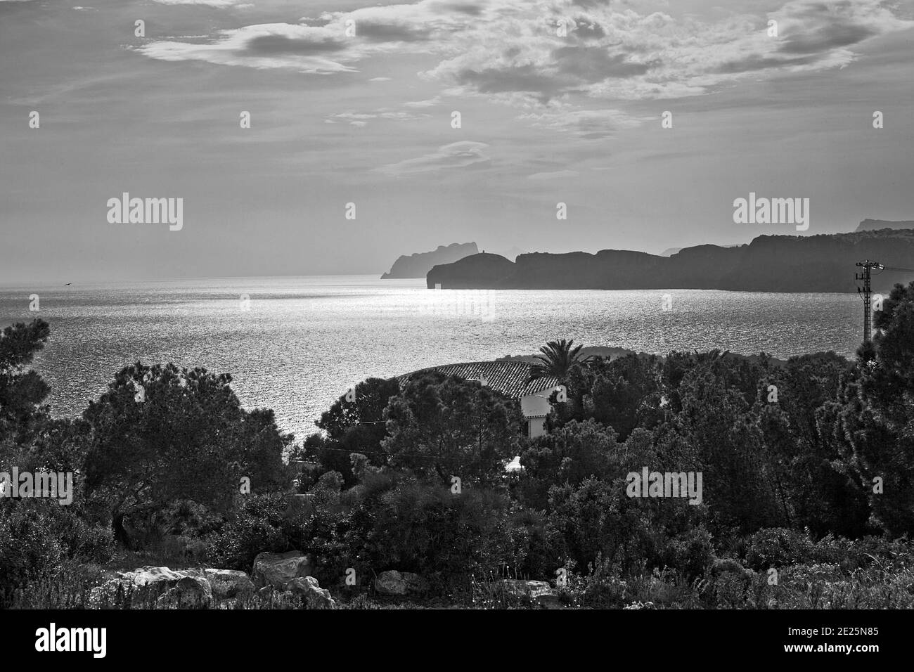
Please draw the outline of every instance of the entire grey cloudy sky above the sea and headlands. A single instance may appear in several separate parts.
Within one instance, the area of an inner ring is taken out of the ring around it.
[[[799,235],[750,192],[914,219],[912,45],[914,0],[0,0],[0,283]]]

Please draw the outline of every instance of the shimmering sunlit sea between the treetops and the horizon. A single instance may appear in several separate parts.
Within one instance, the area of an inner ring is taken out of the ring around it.
[[[856,294],[837,293],[435,291],[363,275],[0,288],[0,327],[36,316],[51,325],[35,368],[58,415],[79,414],[136,360],[172,361],[231,373],[247,408],[272,408],[298,438],[358,380],[531,354],[553,338],[851,356],[863,325]]]

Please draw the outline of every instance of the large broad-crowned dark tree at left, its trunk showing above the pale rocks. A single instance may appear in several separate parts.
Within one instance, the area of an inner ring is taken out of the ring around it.
[[[288,437],[271,414],[243,411],[230,382],[205,368],[137,362],[90,402],[86,493],[108,507],[115,539],[129,546],[125,520],[175,500],[227,510],[242,476],[255,488],[274,481]]]

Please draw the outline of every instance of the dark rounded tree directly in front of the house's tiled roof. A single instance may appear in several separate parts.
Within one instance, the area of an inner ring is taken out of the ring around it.
[[[520,453],[519,405],[477,381],[427,373],[390,400],[384,417],[390,464],[448,485],[452,476],[494,483]]]

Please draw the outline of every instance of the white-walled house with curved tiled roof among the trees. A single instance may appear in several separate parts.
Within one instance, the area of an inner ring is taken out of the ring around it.
[[[480,380],[486,387],[501,392],[509,399],[520,400],[520,409],[526,420],[526,435],[535,437],[546,433],[544,423],[550,410],[549,396],[559,388],[559,385],[555,376],[527,382],[532,366],[530,362],[525,361],[445,364],[413,371],[398,376],[397,380],[402,387],[413,376],[429,371],[439,371],[447,376],[459,376],[468,380]]]

